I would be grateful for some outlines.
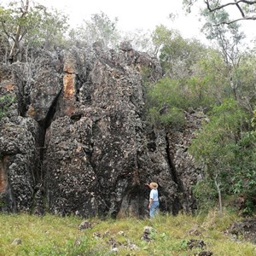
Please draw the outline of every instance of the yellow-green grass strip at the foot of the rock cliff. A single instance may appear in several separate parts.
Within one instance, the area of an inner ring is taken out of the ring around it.
[[[148,218],[88,219],[92,228],[79,230],[84,219],[47,214],[43,218],[20,214],[0,214],[0,255],[197,255],[210,251],[213,255],[256,255],[250,242],[233,241],[226,230],[238,218],[210,212],[207,216],[160,215]],[[151,226],[150,241],[142,239],[145,226]],[[196,232],[195,232],[196,231]],[[20,244],[14,244],[20,238]],[[205,247],[189,249],[188,241],[204,241]],[[112,251],[117,247],[118,251]]]

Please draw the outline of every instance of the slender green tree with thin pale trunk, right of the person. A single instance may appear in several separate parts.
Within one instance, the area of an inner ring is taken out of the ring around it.
[[[235,175],[237,143],[245,131],[247,113],[230,98],[212,108],[209,119],[192,140],[189,152],[205,166],[202,176],[215,184],[222,211],[223,193],[228,193],[234,186],[230,180]]]

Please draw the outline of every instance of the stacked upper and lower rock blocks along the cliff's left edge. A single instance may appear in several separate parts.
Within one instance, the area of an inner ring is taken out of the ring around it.
[[[19,65],[0,67],[0,202],[3,211],[24,211],[32,207],[39,178],[40,127],[21,117],[23,79],[17,79]]]

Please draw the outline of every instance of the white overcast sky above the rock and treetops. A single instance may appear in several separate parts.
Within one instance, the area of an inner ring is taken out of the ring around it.
[[[169,29],[177,29],[183,38],[197,38],[203,43],[207,39],[201,33],[202,24],[194,7],[191,15],[185,15],[183,0],[35,0],[46,7],[53,7],[70,17],[70,24],[77,26],[83,20],[90,20],[93,14],[103,12],[113,20],[118,18],[118,28],[121,31],[135,29],[154,30],[155,26],[165,25]],[[0,3],[9,0],[0,0]],[[203,1],[199,1],[203,2]],[[203,3],[204,4],[204,3]],[[236,11],[236,10],[234,10]],[[175,20],[168,18],[176,15]],[[233,13],[233,12],[232,12]],[[243,21],[242,30],[246,32],[248,41],[256,38],[256,21]]]

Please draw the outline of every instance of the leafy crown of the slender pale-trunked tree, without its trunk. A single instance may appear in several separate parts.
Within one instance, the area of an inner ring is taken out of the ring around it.
[[[189,150],[196,160],[207,164],[208,171],[215,166],[229,169],[235,157],[233,149],[240,138],[247,114],[232,98],[212,108],[209,114],[210,122],[192,141]]]

